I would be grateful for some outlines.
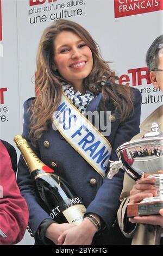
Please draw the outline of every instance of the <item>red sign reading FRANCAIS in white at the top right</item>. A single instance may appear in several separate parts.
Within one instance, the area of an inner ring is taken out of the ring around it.
[[[162,0],[114,0],[115,18],[163,10]]]

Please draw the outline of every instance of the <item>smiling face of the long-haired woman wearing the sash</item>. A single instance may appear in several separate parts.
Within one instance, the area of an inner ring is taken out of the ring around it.
[[[63,31],[54,40],[54,62],[60,75],[71,82],[74,89],[80,90],[92,70],[93,57],[77,34]]]

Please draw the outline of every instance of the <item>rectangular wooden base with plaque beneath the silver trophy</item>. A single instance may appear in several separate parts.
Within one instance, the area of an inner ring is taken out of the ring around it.
[[[163,208],[163,200],[127,205],[127,217],[156,215]]]

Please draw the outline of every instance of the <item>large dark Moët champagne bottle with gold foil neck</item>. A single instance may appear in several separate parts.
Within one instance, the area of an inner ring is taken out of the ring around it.
[[[85,206],[70,186],[54,170],[46,166],[29,147],[22,135],[14,138],[34,180],[36,198],[42,208],[57,223],[79,225],[83,221]]]

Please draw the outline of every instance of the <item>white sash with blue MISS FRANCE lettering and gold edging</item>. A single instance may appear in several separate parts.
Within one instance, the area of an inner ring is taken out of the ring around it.
[[[111,145],[63,92],[60,105],[53,113],[53,129],[59,130],[66,141],[103,178],[105,177],[111,155]]]

